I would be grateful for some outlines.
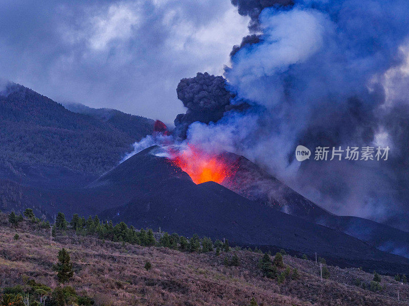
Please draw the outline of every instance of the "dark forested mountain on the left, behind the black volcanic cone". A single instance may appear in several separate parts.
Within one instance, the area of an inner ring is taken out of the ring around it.
[[[98,175],[109,170],[132,150],[133,142],[152,133],[153,120],[107,113],[105,119],[74,113],[9,83],[0,91],[0,178],[29,184],[27,167],[32,167],[28,172],[34,173],[34,181],[46,176],[42,167],[57,169],[56,177],[59,171]]]

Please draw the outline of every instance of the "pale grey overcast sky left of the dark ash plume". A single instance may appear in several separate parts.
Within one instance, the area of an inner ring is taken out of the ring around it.
[[[185,112],[179,80],[221,74],[247,23],[230,0],[3,0],[0,77],[59,102],[173,122]]]

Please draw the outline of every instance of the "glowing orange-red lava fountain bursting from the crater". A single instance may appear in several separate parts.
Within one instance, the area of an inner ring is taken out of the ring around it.
[[[189,174],[195,184],[209,181],[220,184],[226,176],[235,172],[235,167],[220,156],[201,151],[188,145],[183,151],[172,152],[171,160]]]

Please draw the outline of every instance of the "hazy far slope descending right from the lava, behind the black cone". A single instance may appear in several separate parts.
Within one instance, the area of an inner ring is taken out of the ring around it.
[[[237,169],[222,182],[226,188],[287,214],[344,232],[380,250],[409,257],[409,233],[368,219],[336,216],[246,158],[228,152],[221,158],[234,164]]]

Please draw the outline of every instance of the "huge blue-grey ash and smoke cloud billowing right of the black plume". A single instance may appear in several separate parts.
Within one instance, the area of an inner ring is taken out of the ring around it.
[[[234,47],[224,77],[251,108],[191,123],[188,141],[244,155],[329,211],[408,230],[409,3],[232,3],[258,33]],[[299,163],[299,144],[391,150],[388,161]]]

